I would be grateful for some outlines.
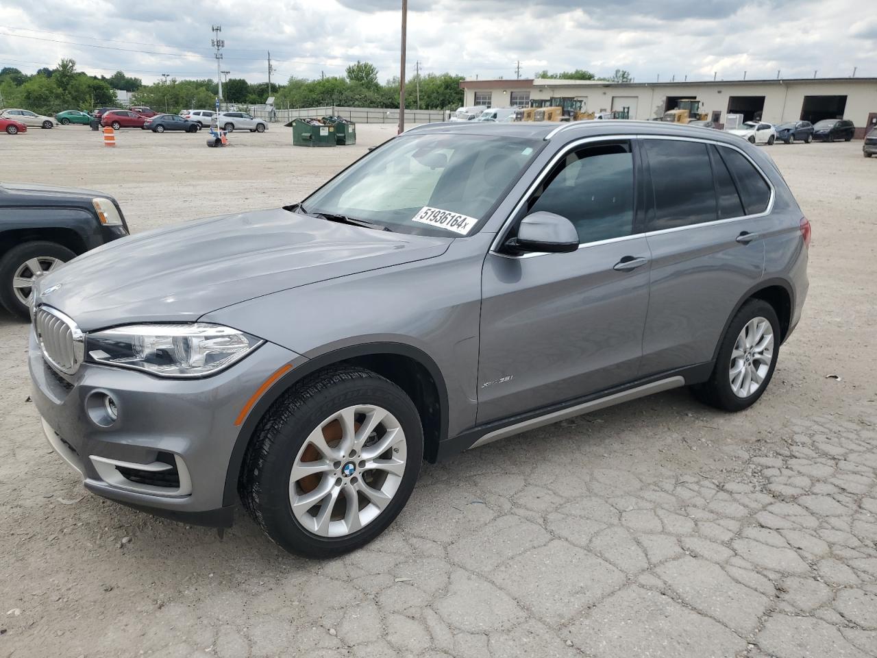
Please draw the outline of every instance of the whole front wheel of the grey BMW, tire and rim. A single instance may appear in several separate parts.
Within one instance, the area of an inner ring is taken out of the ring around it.
[[[423,451],[417,407],[402,389],[370,370],[332,369],[296,384],[261,418],[240,497],[281,547],[332,557],[396,519]]]

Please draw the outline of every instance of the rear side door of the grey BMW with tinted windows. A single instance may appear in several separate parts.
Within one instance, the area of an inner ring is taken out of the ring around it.
[[[736,147],[682,138],[642,146],[651,182],[647,376],[712,360],[731,311],[764,272],[759,232],[773,188]]]

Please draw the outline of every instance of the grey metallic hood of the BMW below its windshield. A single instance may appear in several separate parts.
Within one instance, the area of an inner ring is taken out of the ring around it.
[[[83,331],[193,321],[263,295],[443,254],[452,238],[376,231],[282,208],[115,240],[40,280],[37,300]]]

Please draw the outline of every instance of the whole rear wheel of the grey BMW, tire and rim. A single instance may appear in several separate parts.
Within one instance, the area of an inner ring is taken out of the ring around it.
[[[765,392],[779,354],[780,321],[774,307],[750,299],[731,319],[709,380],[692,391],[710,406],[743,411]]]

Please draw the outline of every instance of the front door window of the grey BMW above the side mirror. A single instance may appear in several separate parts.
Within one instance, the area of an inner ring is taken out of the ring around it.
[[[600,144],[567,154],[539,185],[528,211],[569,219],[579,233],[579,244],[631,235],[631,143]]]

